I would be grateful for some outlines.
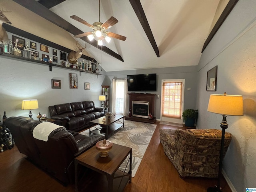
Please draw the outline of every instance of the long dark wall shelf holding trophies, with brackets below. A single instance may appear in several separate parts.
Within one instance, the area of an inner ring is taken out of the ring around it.
[[[98,75],[101,75],[101,74],[97,74],[97,73],[93,73],[93,72],[89,72],[89,71],[84,71],[84,70],[80,70],[80,69],[74,69],[74,68],[70,68],[70,67],[65,67],[65,66],[57,65],[57,64],[54,64],[54,63],[38,61],[38,60],[34,60],[34,59],[28,59],[28,58],[24,58],[24,57],[12,55],[12,54],[0,53],[0,56],[1,57],[4,56],[4,57],[10,58],[10,59],[17,59],[17,60],[24,60],[24,61],[34,62],[36,64],[41,64],[41,65],[48,65],[50,71],[52,71],[52,67],[57,67],[57,68],[64,68],[64,69],[68,69],[68,70],[79,71],[80,75],[81,75],[81,72],[89,73],[89,74],[94,74],[94,75],[97,75],[97,77],[98,77]]]

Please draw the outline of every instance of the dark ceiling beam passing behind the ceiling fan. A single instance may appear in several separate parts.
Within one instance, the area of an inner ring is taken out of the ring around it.
[[[35,0],[13,0],[13,1],[20,4],[21,6],[24,6],[28,10],[34,12],[35,14],[38,14],[39,16],[45,18],[46,20],[52,22],[53,24],[63,28],[64,30],[70,32],[73,35],[83,33],[83,31],[76,28],[75,26],[73,26],[72,24],[70,24],[69,22],[67,22],[66,20],[64,20],[63,18],[58,16],[57,14],[55,14],[54,12],[50,11],[48,8],[46,8],[42,4],[36,2]],[[86,37],[82,37],[81,39],[84,40],[85,42],[91,44],[92,46],[102,50],[103,52],[109,54],[110,56],[112,56],[122,62],[124,61],[123,58],[119,54],[110,50],[106,46],[102,46],[102,48],[100,48],[100,46],[98,46],[98,43],[96,40],[90,41]]]

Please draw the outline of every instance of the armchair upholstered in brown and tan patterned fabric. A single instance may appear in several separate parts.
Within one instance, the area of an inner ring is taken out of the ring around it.
[[[160,129],[160,141],[180,177],[218,177],[222,131]],[[225,133],[224,155],[232,135]]]

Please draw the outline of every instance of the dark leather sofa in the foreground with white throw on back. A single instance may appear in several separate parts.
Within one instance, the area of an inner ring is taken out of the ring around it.
[[[23,116],[10,117],[5,124],[20,153],[64,185],[74,183],[74,158],[105,138],[104,135],[84,136],[51,122],[39,122]],[[48,140],[44,141],[33,136],[38,124],[43,126],[40,129],[43,131],[50,126],[57,128],[49,131]]]

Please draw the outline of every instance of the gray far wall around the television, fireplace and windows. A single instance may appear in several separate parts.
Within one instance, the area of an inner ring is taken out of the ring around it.
[[[154,116],[157,119],[160,119],[161,80],[162,79],[185,79],[184,109],[196,108],[196,94],[197,94],[196,66],[106,72],[108,79],[105,81],[105,83],[106,85],[110,85],[110,94],[112,94],[113,78],[126,78],[126,76],[130,74],[147,74],[147,73],[148,74],[156,73],[157,91],[144,92],[144,93],[152,93],[160,96],[159,98],[155,96],[156,100],[155,100],[155,107],[154,107],[155,109]],[[191,90],[187,90],[187,88],[191,88]],[[129,99],[126,102],[129,103]],[[111,104],[112,104],[112,98],[110,98],[110,111],[112,110]],[[129,109],[127,109],[127,114],[128,114],[128,111]]]

